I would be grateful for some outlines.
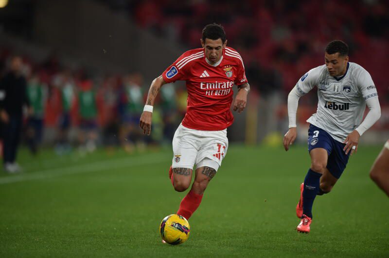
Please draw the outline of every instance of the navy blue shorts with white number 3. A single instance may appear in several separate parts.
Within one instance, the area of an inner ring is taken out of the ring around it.
[[[315,148],[326,149],[328,153],[327,169],[337,179],[339,179],[346,168],[351,153],[350,151],[346,155],[343,150],[344,146],[345,144],[336,141],[325,130],[314,125],[309,126],[308,151],[311,152]]]

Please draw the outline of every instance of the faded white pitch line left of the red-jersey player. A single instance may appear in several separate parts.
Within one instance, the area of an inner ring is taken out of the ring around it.
[[[166,161],[167,157],[165,156],[156,156],[156,155],[147,155],[136,158],[121,158],[116,160],[107,160],[107,161],[98,161],[89,164],[76,165],[76,166],[67,166],[63,168],[54,168],[42,170],[36,173],[31,174],[20,174],[15,176],[3,177],[0,178],[0,184],[9,184],[20,181],[35,180],[35,179],[46,179],[50,177],[59,177],[64,175],[71,174],[82,174],[90,173],[102,170],[111,170],[118,168],[133,167],[146,164],[154,164],[162,161]]]

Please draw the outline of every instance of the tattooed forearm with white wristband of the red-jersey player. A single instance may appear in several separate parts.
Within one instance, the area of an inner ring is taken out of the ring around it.
[[[147,95],[146,105],[144,106],[139,123],[139,126],[141,129],[143,129],[144,134],[150,135],[154,101],[158,95],[159,89],[165,83],[166,82],[163,80],[162,76],[157,77],[153,82],[151,82],[149,93]]]

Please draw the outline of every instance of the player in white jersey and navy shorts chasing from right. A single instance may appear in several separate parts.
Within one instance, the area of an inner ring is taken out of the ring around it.
[[[283,139],[286,151],[297,136],[299,98],[313,87],[318,88],[317,113],[307,120],[311,167],[300,186],[296,207],[301,218],[297,231],[303,233],[310,231],[316,195],[332,190],[350,154],[358,150],[359,137],[381,116],[374,82],[362,66],[349,62],[347,44],[340,40],[330,42],[324,59],[325,64],[302,76],[288,96],[289,130]],[[366,105],[369,113],[363,120]]]

